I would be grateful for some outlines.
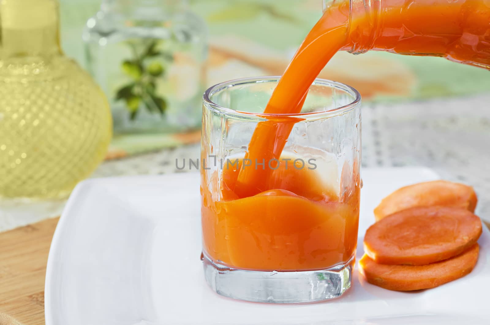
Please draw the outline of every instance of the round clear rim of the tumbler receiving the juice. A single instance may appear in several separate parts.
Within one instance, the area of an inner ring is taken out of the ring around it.
[[[237,85],[243,85],[243,84],[249,84],[249,83],[259,83],[259,82],[279,82],[281,79],[281,76],[265,76],[265,77],[251,77],[251,78],[241,78],[241,79],[234,79],[230,81],[224,81],[218,84],[215,84],[214,86],[209,87],[205,92],[204,95],[202,96],[202,100],[204,103],[204,106],[206,106],[208,109],[213,110],[214,112],[222,115],[228,115],[228,116],[233,116],[233,117],[239,117],[239,118],[246,118],[246,119],[255,119],[258,118],[260,120],[263,119],[269,119],[272,117],[276,118],[284,118],[284,117],[295,117],[295,118],[300,118],[303,120],[311,120],[311,119],[318,119],[318,118],[325,118],[325,117],[332,117],[336,115],[343,114],[345,112],[348,112],[354,108],[357,108],[359,104],[361,103],[361,94],[359,91],[357,91],[354,87],[351,87],[345,83],[338,82],[338,81],[332,81],[332,80],[327,80],[327,79],[321,79],[317,78],[315,81],[313,81],[312,85],[324,85],[324,86],[329,86],[331,88],[337,88],[340,90],[345,91],[347,94],[351,95],[354,99],[351,103],[339,106],[336,108],[332,108],[329,110],[321,110],[321,111],[315,111],[315,112],[304,112],[304,113],[254,113],[254,112],[246,112],[242,110],[235,110],[232,108],[226,108],[222,107],[216,103],[214,103],[211,100],[211,97],[216,94],[217,92],[237,86]]]

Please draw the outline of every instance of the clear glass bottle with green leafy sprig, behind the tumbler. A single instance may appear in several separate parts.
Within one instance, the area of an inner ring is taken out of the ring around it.
[[[206,38],[204,22],[185,0],[102,1],[83,39],[116,133],[200,127]]]

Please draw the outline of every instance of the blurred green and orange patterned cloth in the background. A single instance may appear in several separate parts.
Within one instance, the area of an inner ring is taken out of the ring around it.
[[[322,14],[321,0],[188,0],[209,28],[206,86],[252,76],[280,75]],[[60,0],[62,46],[82,66],[82,31],[101,0]],[[488,71],[438,57],[339,52],[320,78],[354,86],[363,102],[406,102],[490,91]],[[191,77],[185,77],[191,78]],[[199,141],[190,134],[116,136],[108,158]]]

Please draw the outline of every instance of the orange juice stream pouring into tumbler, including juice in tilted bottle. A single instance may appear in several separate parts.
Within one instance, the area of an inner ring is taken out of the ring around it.
[[[274,90],[264,113],[299,113],[310,85],[339,50],[441,56],[490,69],[488,0],[333,0]],[[278,159],[292,125],[257,125],[245,159]],[[272,170],[243,168],[234,192],[248,197],[268,190]]]

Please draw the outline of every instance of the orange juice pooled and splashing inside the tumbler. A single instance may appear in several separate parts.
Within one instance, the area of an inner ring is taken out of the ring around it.
[[[225,168],[221,181],[213,174],[220,199],[201,187],[203,248],[212,260],[255,271],[321,270],[349,261],[357,244],[359,187],[339,197],[315,170],[287,163],[280,160],[267,190],[253,196],[231,190],[241,164]]]

